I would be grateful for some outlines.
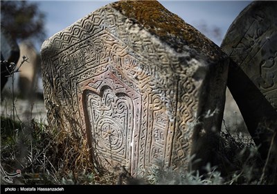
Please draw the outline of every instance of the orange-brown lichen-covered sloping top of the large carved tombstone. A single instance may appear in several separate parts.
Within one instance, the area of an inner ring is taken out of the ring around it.
[[[210,39],[164,8],[158,1],[118,1],[112,6],[179,53],[186,51],[186,46],[189,46],[209,56],[208,58],[220,58],[222,55],[220,48]]]

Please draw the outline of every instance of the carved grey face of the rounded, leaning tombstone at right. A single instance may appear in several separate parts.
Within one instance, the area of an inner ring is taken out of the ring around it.
[[[274,1],[252,3],[233,22],[237,25],[231,26],[222,43],[224,51],[238,63],[274,109],[277,109],[276,8]]]

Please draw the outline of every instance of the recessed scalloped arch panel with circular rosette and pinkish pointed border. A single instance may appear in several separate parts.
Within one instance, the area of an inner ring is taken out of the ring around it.
[[[132,157],[132,136],[139,132],[141,96],[105,71],[78,85],[84,123],[89,121],[93,136],[93,151],[109,166],[129,166]],[[136,113],[136,114],[134,114]]]

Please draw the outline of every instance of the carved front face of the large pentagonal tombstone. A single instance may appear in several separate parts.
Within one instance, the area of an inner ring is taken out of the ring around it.
[[[81,130],[105,168],[120,164],[141,175],[161,160],[175,166],[190,152],[187,123],[198,117],[205,77],[195,82],[200,62],[111,5],[44,42],[49,123]]]

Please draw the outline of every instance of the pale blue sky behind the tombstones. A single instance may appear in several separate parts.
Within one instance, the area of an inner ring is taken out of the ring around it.
[[[33,1],[33,0],[32,0]],[[46,37],[70,26],[90,12],[114,1],[36,1],[46,15]],[[159,1],[188,24],[220,45],[229,26],[251,1]],[[215,35],[213,29],[219,29]],[[40,49],[40,45],[37,46]]]

